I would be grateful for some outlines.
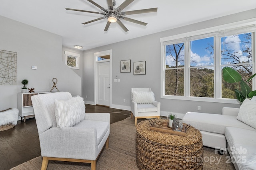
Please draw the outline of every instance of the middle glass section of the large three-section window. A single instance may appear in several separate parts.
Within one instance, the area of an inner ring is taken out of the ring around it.
[[[214,37],[190,41],[190,96],[214,98]]]

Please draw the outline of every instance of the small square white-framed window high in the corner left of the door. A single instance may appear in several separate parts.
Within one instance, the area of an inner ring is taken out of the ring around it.
[[[79,69],[79,58],[80,55],[76,53],[71,53],[69,51],[65,51],[65,64],[72,69]]]

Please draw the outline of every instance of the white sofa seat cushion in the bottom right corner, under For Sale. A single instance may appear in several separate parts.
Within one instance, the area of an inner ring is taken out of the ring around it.
[[[256,131],[237,127],[227,127],[225,137],[229,145],[231,159],[236,160],[240,170],[246,169],[246,160],[256,152]]]

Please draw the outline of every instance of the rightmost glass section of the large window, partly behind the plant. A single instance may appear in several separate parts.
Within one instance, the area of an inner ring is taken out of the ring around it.
[[[221,38],[221,68],[230,66],[242,75],[245,81],[252,76],[252,33],[243,33]],[[249,84],[252,89],[252,84]],[[222,78],[222,98],[236,98],[236,84]]]

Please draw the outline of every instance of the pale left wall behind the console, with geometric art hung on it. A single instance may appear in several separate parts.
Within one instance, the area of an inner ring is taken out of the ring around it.
[[[80,76],[62,62],[61,36],[2,16],[0,25],[0,49],[17,52],[16,85],[0,85],[0,110],[17,108],[23,79],[29,81],[28,88],[41,92],[50,91],[52,78],[57,78],[60,91],[81,95]]]

